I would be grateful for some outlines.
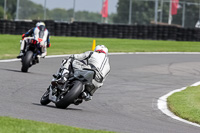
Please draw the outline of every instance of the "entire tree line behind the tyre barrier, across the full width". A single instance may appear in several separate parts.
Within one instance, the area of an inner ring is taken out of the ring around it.
[[[163,4],[161,4],[163,1]],[[168,23],[169,17],[169,0],[158,0],[158,22]],[[199,0],[179,0],[179,8],[177,15],[173,15],[172,24],[182,25],[183,23],[183,7],[185,4],[185,27],[194,27],[200,17]],[[196,4],[194,4],[196,3]],[[129,23],[129,7],[130,0],[118,0],[117,12],[109,14],[108,23]],[[114,5],[113,5],[114,6]],[[162,10],[161,10],[162,9]],[[148,25],[154,21],[155,0],[132,0],[131,24]],[[161,16],[162,13],[162,16]],[[0,19],[4,16],[4,0],[0,1]],[[100,12],[76,11],[76,21],[101,22]],[[7,0],[7,19],[15,19],[16,17],[16,0]],[[73,9],[46,9],[46,19],[56,21],[71,21],[73,17]],[[20,0],[19,19],[44,19],[43,5],[36,4],[30,0]]]

